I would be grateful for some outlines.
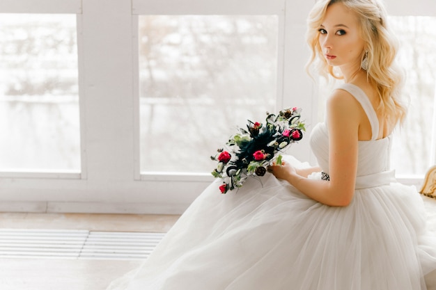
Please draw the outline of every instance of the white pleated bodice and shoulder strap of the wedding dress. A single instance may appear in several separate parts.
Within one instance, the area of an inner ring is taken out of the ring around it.
[[[357,99],[366,112],[371,123],[371,140],[359,140],[358,164],[357,164],[357,188],[363,179],[382,179],[381,184],[394,181],[394,172],[389,171],[389,157],[391,151],[391,136],[378,139],[379,124],[377,115],[371,102],[363,90],[351,83],[345,83],[338,89],[346,90]],[[318,160],[318,165],[324,172],[329,174],[329,135],[327,123],[319,123],[313,128],[310,137],[310,145]],[[386,182],[386,181],[389,182]],[[367,184],[367,182],[364,182]],[[376,182],[377,183],[377,182]],[[375,184],[380,185],[380,184]],[[366,187],[366,186],[364,186]]]

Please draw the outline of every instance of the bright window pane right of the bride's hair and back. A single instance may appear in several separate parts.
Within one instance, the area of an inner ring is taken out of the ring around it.
[[[410,97],[407,120],[396,132],[392,166],[400,175],[420,175],[430,167],[435,108],[436,17],[391,17],[400,39],[398,61],[405,69],[404,93]]]

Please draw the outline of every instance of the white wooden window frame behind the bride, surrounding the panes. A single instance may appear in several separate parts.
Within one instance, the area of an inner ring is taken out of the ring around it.
[[[75,13],[79,60],[81,172],[1,172],[0,211],[181,214],[207,187],[208,173],[139,166],[138,15],[279,15],[277,106],[299,106],[318,122],[318,89],[304,74],[306,15],[315,0],[3,0],[0,13]],[[436,17],[430,0],[385,0],[390,15]],[[96,23],[95,19],[100,19]],[[107,49],[100,49],[107,47]],[[436,99],[435,99],[436,105]],[[316,163],[309,138],[292,154]],[[436,110],[432,146],[436,162]],[[423,177],[400,177],[419,186]],[[219,193],[217,193],[219,194]]]

